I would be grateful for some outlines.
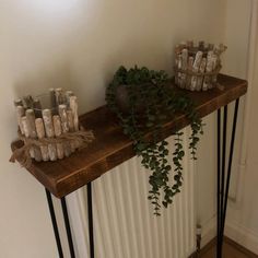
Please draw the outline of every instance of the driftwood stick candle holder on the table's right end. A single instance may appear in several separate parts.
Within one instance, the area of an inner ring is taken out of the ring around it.
[[[226,46],[192,40],[175,47],[175,83],[190,91],[207,91],[218,85],[221,70],[221,54]]]

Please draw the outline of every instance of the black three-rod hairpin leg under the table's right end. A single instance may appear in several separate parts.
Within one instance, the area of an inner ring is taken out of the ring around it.
[[[218,110],[218,227],[216,227],[216,258],[222,258],[223,249],[223,235],[225,227],[226,208],[227,208],[227,197],[231,181],[231,168],[234,153],[235,143],[235,131],[237,122],[239,98],[236,99],[233,128],[231,134],[231,146],[230,156],[227,164],[227,175],[225,183],[225,157],[226,157],[226,124],[227,124],[227,106],[224,107],[224,118],[223,118],[223,143],[222,143],[222,159],[221,159],[221,110]]]

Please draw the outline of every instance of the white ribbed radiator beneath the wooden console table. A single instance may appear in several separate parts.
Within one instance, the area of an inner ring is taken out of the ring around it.
[[[186,133],[185,133],[186,134]],[[173,145],[173,138],[168,139]],[[187,150],[186,137],[184,141]],[[171,152],[173,149],[171,149]],[[195,250],[194,166],[186,153],[184,187],[162,216],[148,198],[149,172],[133,157],[93,181],[96,258],[187,258]],[[86,188],[69,196],[78,257],[89,256]]]

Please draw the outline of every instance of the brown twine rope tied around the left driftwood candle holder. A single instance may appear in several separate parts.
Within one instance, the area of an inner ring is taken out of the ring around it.
[[[67,141],[68,142],[75,141],[79,145],[78,149],[81,150],[87,146],[87,144],[95,139],[93,131],[91,130],[85,131],[82,127],[80,131],[66,132],[55,138],[32,139],[24,137],[23,134],[21,134],[20,131],[17,132],[17,134],[19,139],[24,142],[24,145],[22,148],[14,150],[9,161],[12,163],[17,161],[23,167],[26,168],[30,168],[32,165],[32,157],[30,154],[30,150],[33,146],[39,148],[40,145],[63,143]]]

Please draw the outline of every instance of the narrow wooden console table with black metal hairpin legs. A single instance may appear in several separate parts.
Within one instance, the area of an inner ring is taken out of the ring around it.
[[[223,90],[213,89],[208,92],[185,92],[196,103],[196,110],[198,112],[200,117],[204,117],[218,110],[216,257],[221,258],[238,104],[239,97],[247,92],[247,82],[241,79],[220,74],[219,83],[224,87]],[[225,173],[227,104],[234,101],[235,112],[230,144],[228,166],[227,173]],[[221,133],[222,107],[224,107],[223,133]],[[56,215],[52,207],[51,194],[61,199],[70,255],[73,258],[75,257],[75,255],[67,212],[66,196],[72,191],[75,191],[80,187],[87,185],[90,247],[91,258],[94,258],[91,183],[102,174],[134,156],[134,152],[132,149],[132,142],[122,133],[122,129],[120,128],[120,126],[118,126],[116,117],[107,109],[106,106],[99,107],[93,112],[82,115],[80,117],[80,121],[85,128],[92,129],[96,137],[96,140],[90,145],[89,149],[83,149],[82,151],[72,154],[70,157],[57,162],[33,162],[32,166],[28,168],[28,172],[34,175],[36,179],[39,180],[46,188],[59,257],[63,257],[63,255],[57,227]],[[186,119],[186,116],[178,115],[175,117],[175,119],[166,121],[163,125],[162,138],[167,138],[172,136],[176,130],[183,129],[188,125],[189,120]],[[15,141],[12,143],[11,148],[12,150],[15,150],[17,148],[21,148],[22,144],[22,141]]]

